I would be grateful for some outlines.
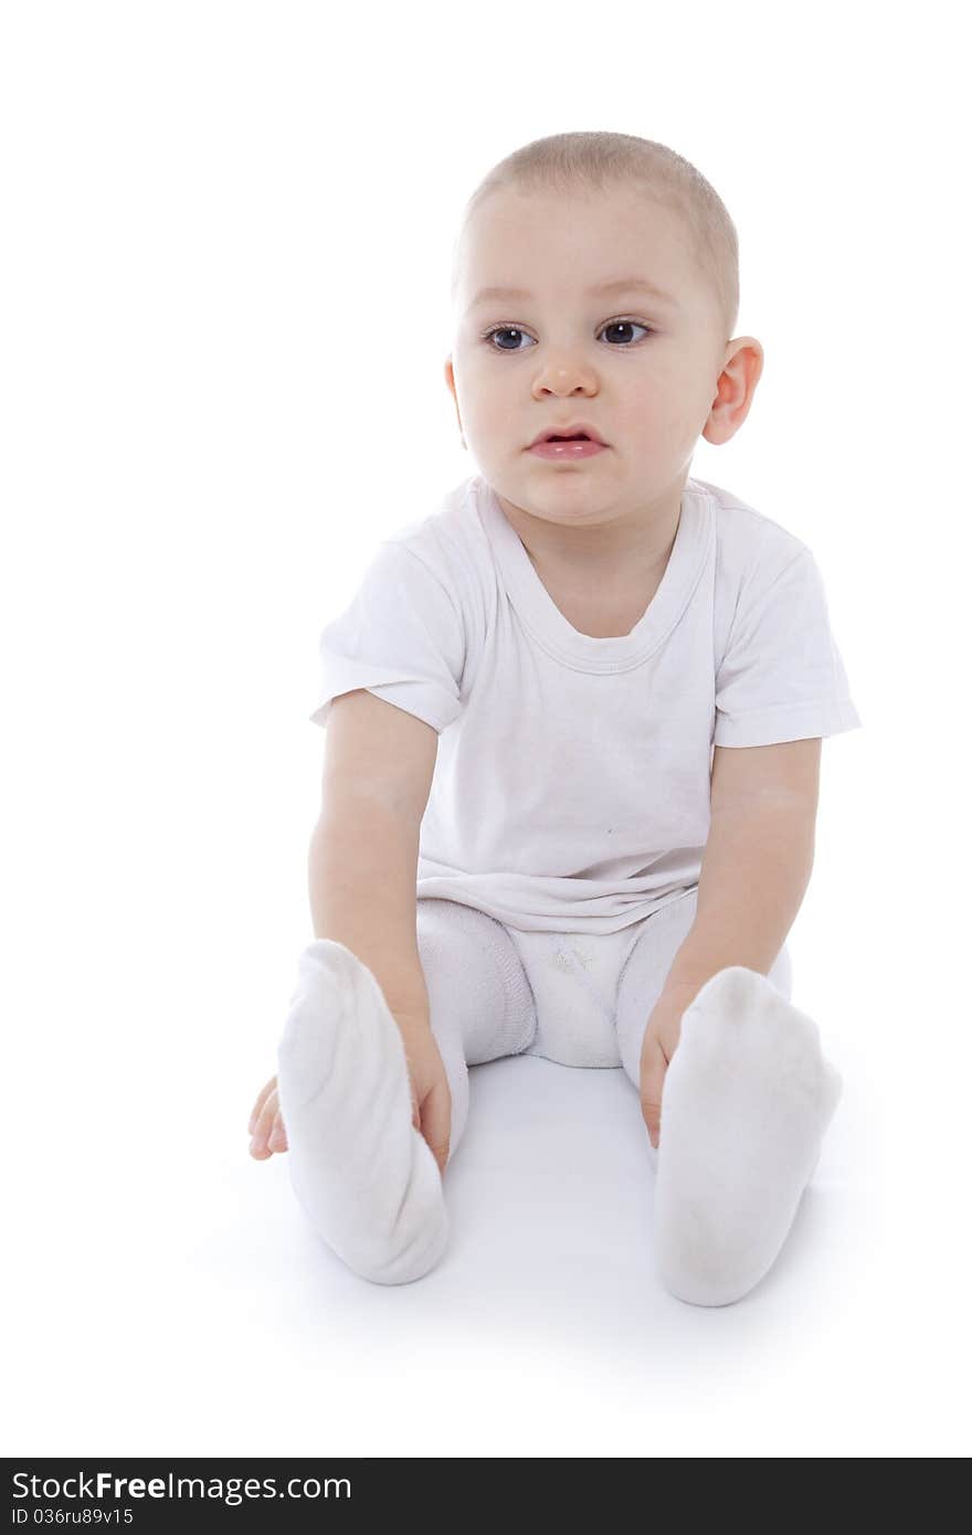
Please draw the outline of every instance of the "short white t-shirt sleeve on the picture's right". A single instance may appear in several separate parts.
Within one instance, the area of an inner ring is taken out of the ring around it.
[[[803,545],[745,583],[716,675],[716,746],[771,746],[860,726],[831,632],[823,579]]]

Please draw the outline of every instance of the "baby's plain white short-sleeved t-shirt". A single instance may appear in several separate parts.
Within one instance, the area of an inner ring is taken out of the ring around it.
[[[809,548],[693,477],[630,634],[568,623],[473,474],[382,539],[319,659],[313,723],[367,688],[439,734],[418,898],[521,930],[617,932],[697,884],[714,746],[861,723]]]

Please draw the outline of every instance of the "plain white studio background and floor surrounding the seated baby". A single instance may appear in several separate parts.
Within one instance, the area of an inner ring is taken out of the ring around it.
[[[969,1452],[958,25],[5,6],[8,1454]],[[732,213],[766,367],[693,473],[811,545],[865,723],[825,744],[791,935],[845,1099],[777,1268],[716,1311],[657,1289],[622,1073],[479,1068],[455,1249],[410,1286],[247,1156],[313,936],[316,635],[473,471],[459,212],[570,129],[669,144]]]

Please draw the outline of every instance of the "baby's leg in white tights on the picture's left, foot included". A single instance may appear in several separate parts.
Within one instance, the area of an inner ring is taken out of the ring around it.
[[[450,1160],[468,1114],[467,1064],[525,1048],[530,985],[499,923],[419,901],[430,1024],[451,1094]],[[436,1160],[412,1124],[402,1038],[373,973],[315,939],[278,1051],[293,1191],[313,1230],[364,1279],[401,1285],[441,1259],[448,1222]]]

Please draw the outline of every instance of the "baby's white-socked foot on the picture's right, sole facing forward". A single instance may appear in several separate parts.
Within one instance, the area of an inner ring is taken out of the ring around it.
[[[673,1296],[725,1306],[766,1274],[840,1091],[817,1025],[766,976],[729,966],[706,981],[662,1090],[654,1225]]]

